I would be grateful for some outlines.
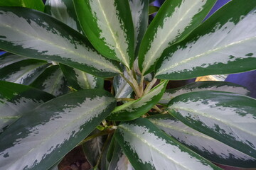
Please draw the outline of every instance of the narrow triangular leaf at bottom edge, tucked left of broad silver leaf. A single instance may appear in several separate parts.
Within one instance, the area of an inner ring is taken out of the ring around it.
[[[108,170],[134,170],[129,159],[122,151],[120,145],[116,144],[114,147],[113,157],[110,162]]]

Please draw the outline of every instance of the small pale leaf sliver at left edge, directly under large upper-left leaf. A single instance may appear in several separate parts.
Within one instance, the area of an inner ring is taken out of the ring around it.
[[[0,69],[2,67],[6,67],[9,64],[13,64],[14,62],[19,62],[21,60],[26,60],[26,59],[27,58],[25,57],[21,57],[21,56],[14,55],[7,52],[6,54],[0,56]]]

